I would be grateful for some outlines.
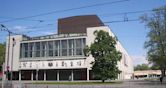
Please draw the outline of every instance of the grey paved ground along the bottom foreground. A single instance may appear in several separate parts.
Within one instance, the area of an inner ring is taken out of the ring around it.
[[[9,87],[4,87],[9,88]],[[145,80],[126,80],[120,84],[109,85],[53,85],[53,84],[22,84],[15,83],[13,88],[166,88],[166,82]]]

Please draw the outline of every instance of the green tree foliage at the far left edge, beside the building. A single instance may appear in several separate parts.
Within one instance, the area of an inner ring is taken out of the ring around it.
[[[0,70],[2,68],[4,60],[5,60],[5,44],[0,43]]]

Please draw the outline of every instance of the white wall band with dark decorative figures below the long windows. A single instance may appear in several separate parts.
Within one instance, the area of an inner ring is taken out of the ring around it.
[[[52,64],[52,65],[50,65]],[[85,59],[52,60],[52,61],[22,61],[20,69],[75,69],[86,68]]]

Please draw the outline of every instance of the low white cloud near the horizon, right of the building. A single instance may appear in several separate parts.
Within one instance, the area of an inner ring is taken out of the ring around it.
[[[132,58],[133,58],[134,66],[138,64],[143,64],[143,63],[148,64],[146,56],[132,56]]]

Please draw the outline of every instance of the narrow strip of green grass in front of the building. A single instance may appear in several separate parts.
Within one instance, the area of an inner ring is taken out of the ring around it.
[[[55,84],[55,85],[111,85],[111,84],[120,84],[122,81],[113,81],[113,82],[32,82],[30,84]]]

